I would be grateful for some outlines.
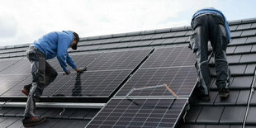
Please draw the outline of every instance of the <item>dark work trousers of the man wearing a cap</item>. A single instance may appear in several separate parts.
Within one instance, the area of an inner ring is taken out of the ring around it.
[[[45,61],[45,55],[36,47],[29,47],[26,57],[31,61],[33,77],[29,96],[27,97],[24,117],[36,116],[36,99],[42,95],[44,88],[55,80],[58,73]]]

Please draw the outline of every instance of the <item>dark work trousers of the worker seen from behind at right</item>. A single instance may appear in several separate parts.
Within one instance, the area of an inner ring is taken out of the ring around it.
[[[192,20],[193,34],[191,44],[197,57],[197,75],[199,95],[208,95],[211,84],[211,73],[208,66],[208,40],[215,55],[216,63],[216,86],[217,88],[230,88],[230,70],[226,60],[226,33],[225,21],[214,13],[205,13]]]

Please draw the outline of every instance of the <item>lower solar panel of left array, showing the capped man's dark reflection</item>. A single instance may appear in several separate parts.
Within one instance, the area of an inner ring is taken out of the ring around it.
[[[87,71],[71,78],[53,96],[109,97],[130,74],[131,69]],[[55,87],[55,85],[52,85]]]

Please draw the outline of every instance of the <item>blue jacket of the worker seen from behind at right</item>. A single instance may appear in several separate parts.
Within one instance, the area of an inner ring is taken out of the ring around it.
[[[230,27],[229,27],[229,24],[228,22],[226,21],[225,19],[225,16],[223,15],[222,12],[220,12],[219,10],[213,8],[213,7],[209,7],[209,8],[203,8],[201,10],[198,10],[193,16],[192,16],[192,19],[194,17],[197,17],[197,15],[201,14],[201,13],[216,13],[218,15],[220,15],[221,17],[224,18],[224,21],[225,21],[225,32],[226,32],[226,37],[227,37],[227,41],[228,41],[228,44],[230,43]],[[192,21],[191,21],[192,23]]]

